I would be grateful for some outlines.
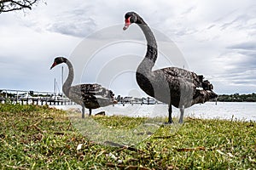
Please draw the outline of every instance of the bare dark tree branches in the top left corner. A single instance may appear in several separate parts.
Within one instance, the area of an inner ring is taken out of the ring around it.
[[[32,9],[32,6],[41,0],[0,0],[0,13],[21,9]]]

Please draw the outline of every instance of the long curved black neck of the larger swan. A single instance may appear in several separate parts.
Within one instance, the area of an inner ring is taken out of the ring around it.
[[[155,60],[157,59],[157,43],[153,32],[150,30],[145,21],[138,16],[137,25],[142,29],[147,39],[147,53],[142,63],[138,66],[137,72],[152,71]]]

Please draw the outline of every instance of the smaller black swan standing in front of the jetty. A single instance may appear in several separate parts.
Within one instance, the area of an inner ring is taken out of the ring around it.
[[[62,86],[63,93],[75,103],[82,106],[82,118],[84,118],[84,107],[89,109],[89,116],[92,109],[116,104],[113,99],[113,92],[107,88],[103,88],[99,84],[79,84],[71,86],[73,82],[73,65],[65,57],[56,57],[50,69],[55,65],[66,63],[68,66],[68,77]]]

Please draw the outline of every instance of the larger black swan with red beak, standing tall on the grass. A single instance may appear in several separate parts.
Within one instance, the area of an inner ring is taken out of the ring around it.
[[[194,72],[177,67],[152,71],[158,54],[154,34],[138,14],[128,12],[125,14],[123,30],[125,31],[132,23],[136,23],[142,29],[147,39],[147,53],[137,67],[137,83],[146,94],[169,105],[167,123],[173,123],[172,105],[180,109],[179,123],[182,123],[184,108],[217,98],[218,95],[212,92],[212,84]]]

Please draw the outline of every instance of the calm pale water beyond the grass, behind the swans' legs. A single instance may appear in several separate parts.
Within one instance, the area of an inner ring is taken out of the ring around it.
[[[71,107],[81,108],[79,105],[55,106],[59,109],[69,109]],[[179,110],[172,107],[173,116],[179,116]],[[88,110],[85,110],[88,111]],[[123,115],[123,116],[168,116],[167,105],[110,105],[92,111],[96,114],[99,111],[105,111],[108,116]],[[249,102],[207,102],[202,105],[193,105],[185,109],[184,116],[198,117],[198,118],[219,118],[219,119],[239,119],[244,121],[256,121],[256,103]]]

